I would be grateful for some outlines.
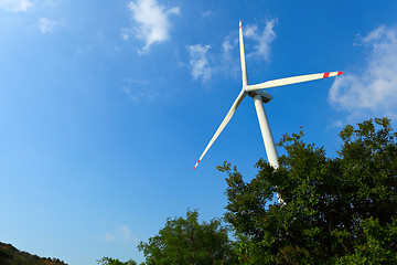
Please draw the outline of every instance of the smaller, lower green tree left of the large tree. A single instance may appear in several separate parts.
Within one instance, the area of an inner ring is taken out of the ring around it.
[[[227,230],[218,219],[198,223],[198,212],[168,219],[165,226],[147,243],[140,242],[147,265],[236,264]]]

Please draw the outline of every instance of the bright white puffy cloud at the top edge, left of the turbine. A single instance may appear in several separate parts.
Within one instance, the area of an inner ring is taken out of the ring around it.
[[[150,45],[169,40],[170,38],[170,14],[180,14],[180,9],[158,4],[157,0],[135,0],[128,3],[128,9],[132,12],[132,19],[137,22],[133,26],[136,38],[146,42],[139,53],[147,53]],[[122,38],[128,40],[129,32],[125,31]]]

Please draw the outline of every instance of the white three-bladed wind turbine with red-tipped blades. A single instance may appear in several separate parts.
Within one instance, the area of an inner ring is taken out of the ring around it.
[[[243,98],[248,94],[248,96],[254,98],[255,102],[255,108],[258,115],[260,131],[262,134],[264,142],[265,142],[265,149],[266,155],[268,157],[269,163],[278,168],[278,155],[275,146],[275,140],[272,138],[269,121],[267,119],[264,103],[268,103],[272,99],[272,96],[264,91],[265,88],[276,87],[276,86],[283,86],[283,85],[290,85],[296,83],[302,83],[307,81],[313,81],[313,80],[321,80],[326,77],[332,77],[336,75],[343,74],[343,72],[328,72],[328,73],[320,73],[320,74],[310,74],[310,75],[300,75],[300,76],[293,76],[293,77],[287,77],[287,78],[280,78],[280,80],[273,80],[273,81],[267,81],[260,84],[256,85],[248,85],[248,76],[247,76],[247,67],[245,62],[245,52],[244,52],[244,42],[243,42],[243,29],[242,29],[242,21],[239,21],[239,49],[240,49],[240,60],[242,60],[242,73],[243,73],[243,89],[237,96],[236,100],[232,105],[229,112],[226,114],[226,117],[222,121],[221,126],[215,131],[215,135],[211,138],[210,144],[204,149],[203,153],[201,155],[198,161],[194,166],[193,169],[195,169],[205,153],[208,151],[210,147],[214,144],[216,138],[219,136],[222,130],[225,128],[227,123],[230,120],[232,116],[236,112],[238,105],[242,103]],[[281,201],[280,197],[279,201]],[[281,201],[282,202],[282,201]]]

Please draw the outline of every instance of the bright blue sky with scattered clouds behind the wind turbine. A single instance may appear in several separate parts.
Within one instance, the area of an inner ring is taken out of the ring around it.
[[[396,118],[396,1],[0,0],[0,242],[71,265],[136,248],[168,216],[222,216],[225,177],[266,158],[246,97],[193,166],[242,87],[267,92],[276,141],[303,126],[335,156],[337,132]],[[395,123],[394,123],[395,125]],[[279,150],[282,153],[282,150]]]

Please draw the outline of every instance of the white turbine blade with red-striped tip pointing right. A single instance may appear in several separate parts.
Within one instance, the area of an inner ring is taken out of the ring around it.
[[[343,74],[343,72],[328,72],[328,73],[299,75],[299,76],[293,76],[293,77],[267,81],[267,82],[264,82],[264,83],[260,83],[257,85],[250,85],[247,87],[247,91],[248,92],[259,91],[259,89],[297,84],[297,83],[302,83],[302,82],[308,82],[308,81],[313,81],[313,80],[322,80],[322,78],[332,77],[332,76],[336,76],[336,75],[341,75],[341,74]]]

